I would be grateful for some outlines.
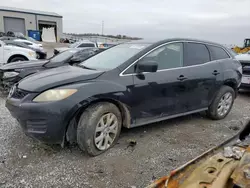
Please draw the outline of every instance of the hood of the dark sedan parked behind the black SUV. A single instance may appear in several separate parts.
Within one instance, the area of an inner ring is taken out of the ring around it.
[[[15,69],[41,67],[47,62],[48,60],[19,61],[19,62],[5,64],[0,67],[0,70],[8,71],[8,70],[15,70]]]

